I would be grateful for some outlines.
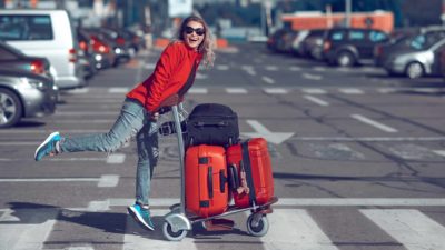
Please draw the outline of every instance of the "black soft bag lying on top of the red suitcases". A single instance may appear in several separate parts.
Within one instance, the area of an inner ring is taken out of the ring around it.
[[[228,147],[239,140],[238,116],[229,107],[202,103],[194,108],[187,118],[185,144],[211,144]]]

